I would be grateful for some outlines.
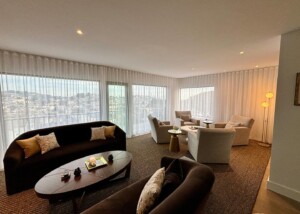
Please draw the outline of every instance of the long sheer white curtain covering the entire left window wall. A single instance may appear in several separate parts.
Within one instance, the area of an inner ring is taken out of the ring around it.
[[[147,113],[170,119],[176,87],[174,78],[0,50],[0,169],[12,140],[32,129],[111,117],[127,137],[150,132]]]

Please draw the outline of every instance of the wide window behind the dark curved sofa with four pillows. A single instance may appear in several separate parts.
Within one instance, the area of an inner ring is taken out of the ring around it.
[[[0,75],[6,142],[32,129],[100,120],[99,82]]]

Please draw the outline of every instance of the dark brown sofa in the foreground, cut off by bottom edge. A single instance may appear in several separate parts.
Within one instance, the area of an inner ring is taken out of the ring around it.
[[[163,157],[161,166],[167,168],[173,160],[173,158]],[[201,213],[201,209],[213,186],[214,174],[206,165],[194,161],[178,160],[182,166],[182,183],[149,213]],[[143,178],[120,190],[85,210],[83,214],[135,214],[140,194],[150,177]]]

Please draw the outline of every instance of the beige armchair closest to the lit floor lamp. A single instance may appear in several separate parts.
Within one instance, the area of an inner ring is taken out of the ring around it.
[[[239,115],[233,115],[229,122],[216,122],[215,128],[234,128],[236,131],[233,146],[248,145],[249,135],[254,119]]]

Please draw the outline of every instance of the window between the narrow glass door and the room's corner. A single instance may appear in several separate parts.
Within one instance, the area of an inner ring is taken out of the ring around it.
[[[152,114],[159,120],[166,119],[167,88],[133,85],[133,135],[149,132],[147,116]]]

